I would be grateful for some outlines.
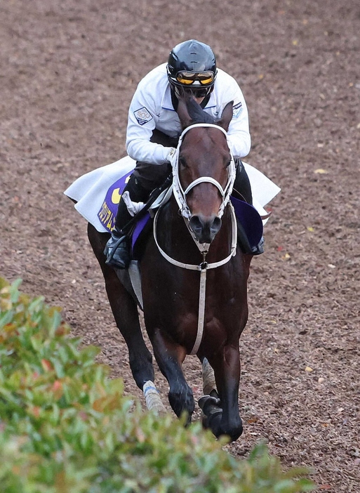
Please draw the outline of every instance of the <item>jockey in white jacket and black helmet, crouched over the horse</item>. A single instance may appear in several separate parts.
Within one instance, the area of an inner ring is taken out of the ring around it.
[[[173,50],[168,63],[149,72],[138,84],[128,112],[126,150],[136,166],[124,189],[132,202],[147,202],[154,188],[171,174],[171,157],[182,131],[178,108],[179,91],[192,93],[196,102],[214,119],[233,101],[233,117],[227,136],[236,164],[234,189],[239,198],[252,204],[251,185],[241,164],[241,157],[250,152],[251,137],[248,110],[243,93],[235,79],[216,67],[210,46],[190,39]],[[122,197],[124,196],[124,192]],[[116,268],[128,268],[131,261],[130,240],[123,228],[131,214],[121,197],[115,227],[104,254],[106,263]],[[253,255],[262,253],[260,244]]]

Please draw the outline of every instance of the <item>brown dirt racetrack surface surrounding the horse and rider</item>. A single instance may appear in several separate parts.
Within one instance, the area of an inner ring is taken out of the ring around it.
[[[172,46],[213,46],[248,103],[246,161],[282,188],[253,259],[245,429],[229,453],[266,440],[284,466],[310,466],[318,492],[359,493],[359,1],[9,0],[0,25],[0,275],[61,305],[139,397],[62,192],[124,155],[135,86]],[[185,369],[199,397],[199,365]]]

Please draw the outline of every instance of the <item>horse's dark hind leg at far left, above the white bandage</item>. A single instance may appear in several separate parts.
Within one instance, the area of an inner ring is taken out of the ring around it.
[[[128,346],[131,372],[136,385],[143,390],[145,382],[154,381],[152,355],[142,337],[138,307],[135,301],[119,281],[116,272],[105,264],[103,251],[108,238],[107,233],[100,233],[91,224],[88,225],[88,239],[104,275],[112,313]]]

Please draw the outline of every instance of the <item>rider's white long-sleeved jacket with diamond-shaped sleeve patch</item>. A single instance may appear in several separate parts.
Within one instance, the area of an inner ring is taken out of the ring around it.
[[[227,132],[229,147],[234,157],[245,157],[251,147],[245,99],[236,80],[218,69],[214,90],[204,110],[220,119],[222,110],[232,100],[234,114]],[[166,63],[154,68],[140,81],[131,100],[126,131],[126,151],[130,157],[153,164],[168,162],[170,148],[150,142],[154,129],[170,137],[178,137],[181,133],[180,120],[171,102]]]

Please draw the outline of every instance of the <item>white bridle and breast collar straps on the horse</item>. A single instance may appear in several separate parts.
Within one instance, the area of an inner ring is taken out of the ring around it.
[[[195,355],[197,351],[199,350],[201,340],[203,337],[204,333],[204,315],[205,315],[205,294],[206,294],[206,271],[208,269],[213,269],[220,267],[220,265],[225,265],[225,263],[229,262],[230,258],[236,254],[236,242],[237,242],[237,226],[236,226],[236,217],[234,213],[234,208],[232,206],[232,203],[230,202],[230,193],[232,192],[232,187],[234,185],[234,180],[235,180],[235,164],[234,164],[234,157],[231,155],[231,162],[228,166],[228,177],[227,177],[227,183],[225,185],[225,188],[222,188],[222,185],[215,180],[214,178],[211,178],[211,176],[201,176],[199,178],[196,178],[196,180],[192,181],[185,190],[183,190],[182,185],[180,183],[180,176],[179,176],[179,152],[180,152],[180,146],[182,144],[182,139],[184,138],[185,134],[196,127],[211,127],[218,129],[222,131],[222,133],[225,134],[227,137],[227,132],[225,129],[222,129],[222,127],[215,125],[215,124],[193,124],[188,126],[184,131],[182,131],[182,134],[180,135],[179,138],[179,143],[178,147],[176,148],[175,156],[173,158],[173,195],[175,197],[176,202],[178,203],[178,206],[180,208],[180,213],[182,217],[184,218],[185,224],[187,225],[187,228],[192,235],[192,238],[194,239],[194,242],[196,246],[199,248],[199,251],[201,251],[201,254],[203,256],[203,261],[199,265],[193,265],[193,264],[188,264],[188,263],[182,263],[175,258],[172,258],[166,252],[161,249],[159,242],[157,241],[157,235],[156,235],[156,230],[157,230],[157,222],[159,219],[159,211],[161,210],[158,209],[156,211],[156,215],[154,217],[154,240],[156,242],[156,247],[159,249],[159,252],[161,255],[166,258],[168,262],[170,262],[173,265],[176,265],[176,267],[188,269],[188,270],[199,270],[200,272],[200,289],[199,289],[199,318],[198,318],[198,327],[197,327],[197,334],[196,334],[196,340],[194,343],[194,346],[191,351],[191,355]],[[222,202],[220,204],[218,216],[221,217],[222,214],[225,211],[225,207],[228,205],[231,213],[231,220],[232,220],[232,244],[230,248],[230,253],[226,258],[223,258],[222,260],[214,263],[207,263],[206,262],[206,254],[208,254],[208,248],[210,247],[210,244],[207,243],[199,243],[195,236],[194,232],[192,232],[192,229],[189,226],[189,220],[191,218],[191,211],[189,209],[189,206],[187,205],[186,202],[186,196],[187,193],[189,193],[192,188],[196,187],[196,185],[199,185],[199,183],[212,183],[215,185],[216,188],[220,191],[220,195],[222,197]]]

